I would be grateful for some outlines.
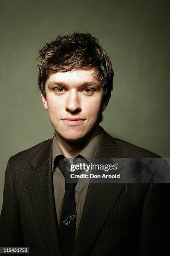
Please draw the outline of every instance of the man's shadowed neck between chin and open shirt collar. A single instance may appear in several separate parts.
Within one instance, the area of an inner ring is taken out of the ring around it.
[[[98,126],[92,129],[90,133],[88,133],[84,138],[78,141],[66,141],[56,131],[55,131],[55,136],[56,136],[58,145],[60,146],[64,155],[67,158],[74,158],[89,143],[92,135],[95,133],[97,128]]]

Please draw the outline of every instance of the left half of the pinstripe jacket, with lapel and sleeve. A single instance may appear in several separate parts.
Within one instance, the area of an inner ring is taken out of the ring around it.
[[[0,218],[2,246],[25,245],[30,247],[30,255],[61,255],[51,163],[52,139],[8,162]],[[10,206],[10,201],[15,205]],[[23,241],[19,239],[22,233]]]

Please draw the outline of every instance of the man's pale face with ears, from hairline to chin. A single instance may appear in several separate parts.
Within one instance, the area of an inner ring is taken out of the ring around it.
[[[69,72],[51,72],[42,96],[56,136],[67,141],[85,137],[99,123],[103,102],[103,89],[97,81],[94,68]]]

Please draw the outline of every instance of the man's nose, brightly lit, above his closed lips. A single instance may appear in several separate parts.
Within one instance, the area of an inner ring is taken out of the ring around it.
[[[80,99],[78,92],[70,92],[65,102],[65,110],[70,112],[81,111]]]

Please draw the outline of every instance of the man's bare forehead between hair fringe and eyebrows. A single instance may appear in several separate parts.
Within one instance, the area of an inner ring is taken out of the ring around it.
[[[97,82],[97,77],[96,74],[94,74],[94,72],[94,68],[74,69],[68,72],[50,72],[49,77],[46,80],[46,84],[49,84],[52,81],[64,82],[69,84]]]

